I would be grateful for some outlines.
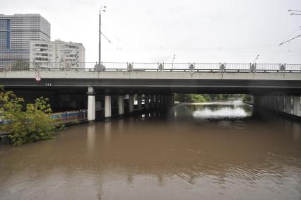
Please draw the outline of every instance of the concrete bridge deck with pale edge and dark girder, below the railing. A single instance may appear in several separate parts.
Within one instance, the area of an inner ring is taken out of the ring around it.
[[[156,71],[3,71],[7,88],[87,88],[170,93],[300,93],[301,73],[201,73]]]

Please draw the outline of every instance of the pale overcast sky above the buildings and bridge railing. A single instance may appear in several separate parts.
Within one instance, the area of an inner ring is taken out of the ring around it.
[[[1,0],[0,13],[40,13],[52,40],[81,42],[85,60],[301,63],[301,0]]]

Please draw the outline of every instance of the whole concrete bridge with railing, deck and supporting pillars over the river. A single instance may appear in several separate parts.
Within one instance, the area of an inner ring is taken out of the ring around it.
[[[175,93],[245,93],[258,107],[300,116],[301,64],[0,63],[0,84],[53,107],[118,114],[173,105]],[[88,98],[87,98],[88,96]],[[144,98],[144,100],[143,100]]]

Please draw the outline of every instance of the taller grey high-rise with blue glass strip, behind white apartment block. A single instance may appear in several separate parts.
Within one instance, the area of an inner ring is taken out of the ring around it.
[[[30,40],[50,40],[50,23],[39,14],[0,14],[0,62],[30,61]]]

